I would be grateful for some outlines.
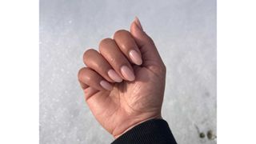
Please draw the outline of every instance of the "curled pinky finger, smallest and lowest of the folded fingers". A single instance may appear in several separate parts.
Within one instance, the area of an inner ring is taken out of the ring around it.
[[[82,83],[82,88],[91,86],[96,90],[112,90],[113,86],[107,82],[102,76],[100,76],[94,70],[88,67],[84,67],[78,72],[78,80]]]

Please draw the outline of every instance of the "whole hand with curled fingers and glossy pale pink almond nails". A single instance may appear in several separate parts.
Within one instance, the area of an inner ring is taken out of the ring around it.
[[[99,51],[86,50],[87,67],[78,72],[98,122],[118,138],[141,122],[162,118],[166,66],[138,18],[130,32],[118,30],[114,39],[103,39]]]

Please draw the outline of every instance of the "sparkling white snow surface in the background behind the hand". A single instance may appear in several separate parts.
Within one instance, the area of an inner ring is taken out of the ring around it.
[[[110,143],[77,81],[82,54],[138,16],[167,67],[162,116],[178,143],[216,143],[214,0],[41,0],[40,143]]]

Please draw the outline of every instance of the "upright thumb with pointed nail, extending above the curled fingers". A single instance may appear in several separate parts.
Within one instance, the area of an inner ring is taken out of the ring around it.
[[[137,17],[130,25],[130,34],[134,37],[142,53],[143,66],[164,66],[153,40],[143,31]]]

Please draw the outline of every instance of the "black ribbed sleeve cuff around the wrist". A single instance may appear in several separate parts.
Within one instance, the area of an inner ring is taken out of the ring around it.
[[[176,144],[173,134],[171,134],[168,123],[163,119],[151,119],[142,122],[119,138],[112,144]]]

